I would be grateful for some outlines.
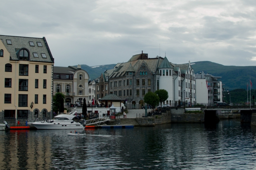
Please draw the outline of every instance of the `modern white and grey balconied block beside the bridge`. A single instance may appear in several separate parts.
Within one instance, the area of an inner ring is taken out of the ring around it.
[[[197,103],[216,104],[223,101],[223,84],[220,76],[204,74],[204,71],[195,75]]]

